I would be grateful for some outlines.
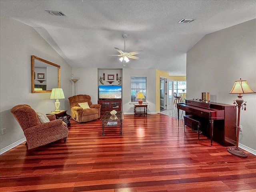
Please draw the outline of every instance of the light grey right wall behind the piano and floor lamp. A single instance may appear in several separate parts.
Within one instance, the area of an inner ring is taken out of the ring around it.
[[[204,36],[187,53],[187,98],[201,98],[233,104],[229,94],[234,82],[242,78],[256,91],[256,19]],[[246,111],[241,111],[239,143],[256,150],[256,94],[244,94]]]

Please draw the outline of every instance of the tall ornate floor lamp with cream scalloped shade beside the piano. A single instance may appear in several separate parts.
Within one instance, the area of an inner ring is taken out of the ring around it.
[[[235,81],[235,84],[229,93],[239,94],[239,95],[237,96],[238,98],[234,100],[234,103],[233,103],[234,108],[238,108],[237,124],[236,124],[236,147],[228,148],[228,152],[236,156],[246,157],[247,154],[238,148],[238,139],[239,139],[239,131],[240,131],[240,109],[242,107],[242,109],[244,108],[244,110],[246,110],[246,101],[242,99],[241,94],[255,93],[255,92],[251,90],[246,80],[241,80],[240,78],[240,80]]]

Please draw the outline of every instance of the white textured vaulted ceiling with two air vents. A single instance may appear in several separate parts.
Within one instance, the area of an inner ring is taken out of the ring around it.
[[[45,10],[61,11],[52,16]],[[1,0],[0,14],[32,26],[72,67],[150,68],[186,75],[204,35],[256,18],[255,0]],[[182,18],[196,19],[178,23]],[[246,30],[246,29],[245,29]],[[114,47],[143,50],[126,66]]]

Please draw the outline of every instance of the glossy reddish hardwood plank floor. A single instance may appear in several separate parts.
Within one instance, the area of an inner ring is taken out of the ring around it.
[[[1,192],[255,192],[256,156],[177,127],[162,114],[125,115],[120,128],[71,120],[63,140],[26,156],[21,144],[0,156]]]

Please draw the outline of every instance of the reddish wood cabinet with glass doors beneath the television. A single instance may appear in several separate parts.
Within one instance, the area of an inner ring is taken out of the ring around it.
[[[101,104],[100,115],[106,111],[121,111],[121,103],[122,99],[98,100],[98,104]]]

